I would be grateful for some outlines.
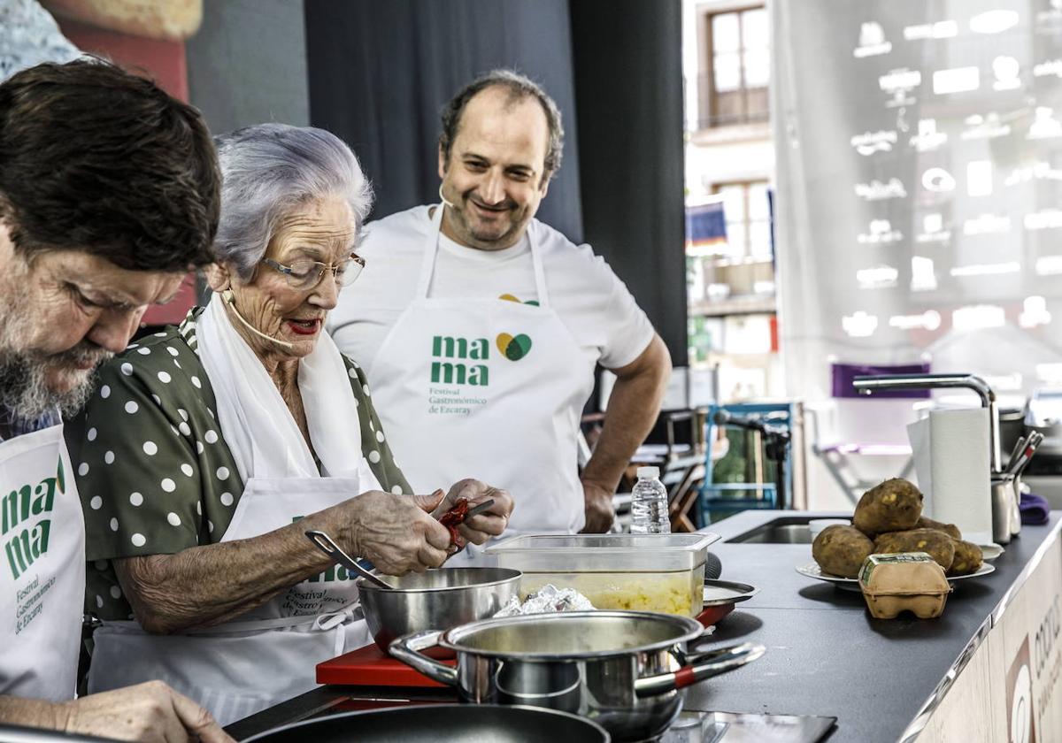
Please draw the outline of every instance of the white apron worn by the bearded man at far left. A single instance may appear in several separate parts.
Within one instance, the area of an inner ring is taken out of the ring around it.
[[[0,443],[0,694],[74,697],[85,521],[63,427]]]

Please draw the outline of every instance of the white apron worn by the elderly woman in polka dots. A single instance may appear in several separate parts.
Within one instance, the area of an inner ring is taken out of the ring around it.
[[[252,479],[222,541],[286,526],[358,494],[358,485],[353,478]],[[187,635],[105,622],[93,636],[89,692],[160,678],[228,725],[309,691],[318,663],[373,641],[356,577],[333,566],[232,622]]]

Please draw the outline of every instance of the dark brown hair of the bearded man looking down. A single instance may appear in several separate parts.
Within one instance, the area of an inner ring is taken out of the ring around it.
[[[134,271],[213,260],[221,175],[200,113],[102,59],[0,83],[0,220],[29,260],[79,249]]]

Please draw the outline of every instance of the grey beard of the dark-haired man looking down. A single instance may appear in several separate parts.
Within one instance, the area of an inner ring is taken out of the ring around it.
[[[64,416],[72,416],[88,401],[96,375],[86,374],[70,390],[56,392],[48,386],[49,368],[82,360],[95,360],[99,364],[114,355],[88,341],[55,355],[16,350],[19,339],[30,334],[29,317],[19,315],[33,306],[25,292],[18,294],[0,300],[0,316],[5,321],[0,327],[0,410],[23,421],[37,420],[55,410]]]

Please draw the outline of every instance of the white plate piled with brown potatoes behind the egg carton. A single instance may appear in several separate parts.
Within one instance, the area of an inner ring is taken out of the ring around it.
[[[856,576],[871,554],[928,553],[948,581],[988,575],[980,547],[962,538],[958,528],[922,515],[922,493],[903,478],[886,480],[862,495],[852,524],[823,529],[811,545],[813,563],[798,566],[802,575],[859,589]]]

